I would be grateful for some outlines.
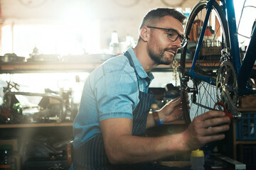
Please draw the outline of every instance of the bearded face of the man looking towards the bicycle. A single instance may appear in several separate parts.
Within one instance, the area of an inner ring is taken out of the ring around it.
[[[155,27],[174,29],[178,34],[183,35],[183,26],[180,21],[171,16],[164,16]],[[168,38],[168,31],[149,28],[150,40],[148,45],[149,57],[156,64],[171,64],[174,60],[178,48],[181,47],[181,40],[171,41]]]

